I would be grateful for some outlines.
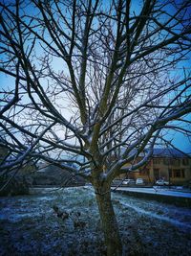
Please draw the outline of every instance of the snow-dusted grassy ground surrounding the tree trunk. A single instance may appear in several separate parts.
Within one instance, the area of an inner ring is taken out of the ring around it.
[[[113,194],[123,255],[191,255],[191,211],[157,201]],[[78,221],[63,221],[53,205]],[[92,187],[0,198],[0,255],[105,255]]]

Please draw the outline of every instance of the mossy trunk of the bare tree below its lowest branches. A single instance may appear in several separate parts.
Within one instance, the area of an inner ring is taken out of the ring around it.
[[[101,193],[99,191],[101,191]],[[96,190],[96,202],[98,204],[101,226],[104,232],[105,244],[107,246],[107,255],[121,256],[122,244],[120,241],[116,215],[112,205],[110,188],[107,191],[103,190],[103,188]]]

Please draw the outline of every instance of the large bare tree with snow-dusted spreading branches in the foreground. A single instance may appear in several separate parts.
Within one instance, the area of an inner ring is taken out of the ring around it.
[[[182,67],[191,3],[139,2],[0,3],[0,70],[11,77],[1,89],[0,146],[9,151],[1,174],[43,159],[84,176],[108,255],[122,251],[113,179],[144,165],[155,145],[175,147],[167,130],[190,135],[190,73]]]

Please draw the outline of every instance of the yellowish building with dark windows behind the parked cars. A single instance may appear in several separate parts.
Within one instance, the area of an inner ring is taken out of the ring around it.
[[[170,184],[183,185],[191,180],[191,159],[174,149],[155,149],[150,161],[128,177],[141,177],[153,184],[162,178]]]

